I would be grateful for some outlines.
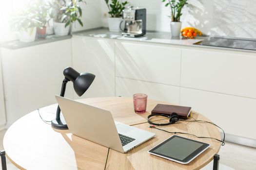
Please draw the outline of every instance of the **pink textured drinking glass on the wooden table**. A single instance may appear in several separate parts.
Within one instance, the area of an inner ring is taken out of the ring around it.
[[[136,113],[146,112],[147,99],[148,99],[148,96],[146,94],[138,93],[133,95],[133,105],[134,105],[134,111]]]

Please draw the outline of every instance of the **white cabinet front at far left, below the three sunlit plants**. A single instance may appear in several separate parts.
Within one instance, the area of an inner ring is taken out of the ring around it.
[[[7,127],[23,115],[56,103],[64,68],[72,65],[71,40],[9,50],[2,48],[2,74]],[[73,98],[67,84],[66,97]]]

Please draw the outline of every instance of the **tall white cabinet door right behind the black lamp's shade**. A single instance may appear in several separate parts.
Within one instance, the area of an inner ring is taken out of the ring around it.
[[[83,97],[115,96],[114,42],[95,37],[72,37],[73,67],[96,78]],[[75,94],[75,98],[78,96]]]

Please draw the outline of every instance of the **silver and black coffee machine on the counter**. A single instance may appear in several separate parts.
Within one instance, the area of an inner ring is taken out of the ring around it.
[[[138,37],[146,34],[146,9],[128,6],[123,10],[122,35]],[[120,24],[120,25],[121,25]]]

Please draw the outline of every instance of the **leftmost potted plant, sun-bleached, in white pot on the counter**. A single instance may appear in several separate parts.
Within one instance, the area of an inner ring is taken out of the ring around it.
[[[29,10],[21,11],[12,20],[13,27],[19,31],[19,39],[22,42],[35,41],[37,27],[41,24],[34,8],[29,6],[27,9]]]

